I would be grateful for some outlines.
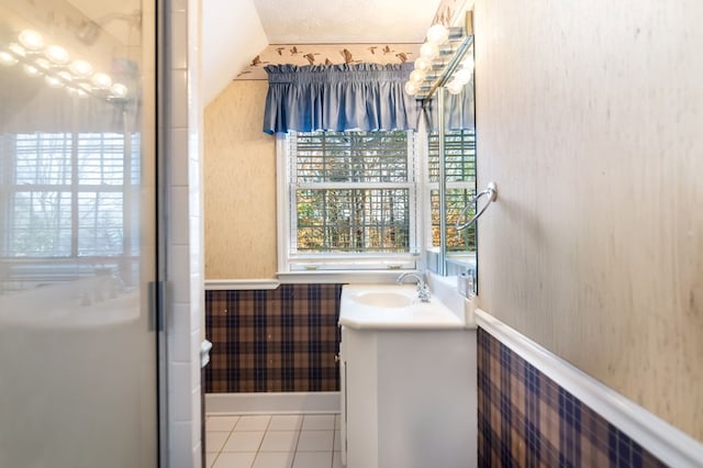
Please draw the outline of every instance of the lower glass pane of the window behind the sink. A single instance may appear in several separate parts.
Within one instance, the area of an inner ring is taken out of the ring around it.
[[[410,190],[298,190],[298,250],[410,252]]]

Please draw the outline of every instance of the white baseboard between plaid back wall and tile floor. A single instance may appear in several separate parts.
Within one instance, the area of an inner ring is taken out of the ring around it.
[[[207,414],[294,414],[338,412],[338,391],[205,394]]]

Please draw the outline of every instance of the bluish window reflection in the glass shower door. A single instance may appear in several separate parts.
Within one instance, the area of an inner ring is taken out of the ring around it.
[[[8,229],[1,248],[15,258],[130,255],[125,197],[138,178],[138,135],[125,151],[116,133],[30,133],[2,137],[0,177]],[[126,155],[126,156],[125,156]]]

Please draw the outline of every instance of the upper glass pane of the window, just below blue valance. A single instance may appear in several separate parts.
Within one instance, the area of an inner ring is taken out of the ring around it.
[[[405,182],[406,132],[314,132],[297,135],[298,183]]]

